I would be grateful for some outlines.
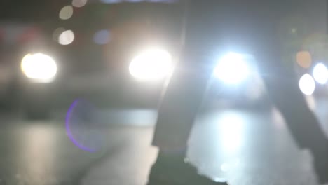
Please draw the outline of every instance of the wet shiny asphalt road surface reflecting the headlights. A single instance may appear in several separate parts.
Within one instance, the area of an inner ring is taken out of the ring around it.
[[[323,128],[325,106],[317,103],[315,111]],[[155,120],[151,109],[102,111],[104,124],[71,128],[84,133],[77,142],[99,146],[90,153],[67,136],[63,113],[51,121],[2,114],[0,185],[145,184],[157,153],[149,146]],[[189,145],[189,160],[201,173],[233,185],[317,184],[310,153],[297,148],[274,109],[205,111]]]

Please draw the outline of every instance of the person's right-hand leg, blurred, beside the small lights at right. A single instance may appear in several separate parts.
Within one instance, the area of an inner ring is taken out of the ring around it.
[[[327,138],[299,90],[299,81],[292,62],[282,61],[280,50],[279,44],[275,43],[270,47],[263,46],[255,52],[268,95],[285,118],[296,143],[302,149],[307,148],[312,151],[320,182],[327,182]]]

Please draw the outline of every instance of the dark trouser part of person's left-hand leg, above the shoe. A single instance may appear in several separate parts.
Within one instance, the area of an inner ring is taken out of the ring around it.
[[[184,57],[177,65],[158,109],[153,145],[168,153],[185,154],[189,132],[211,76],[211,71],[200,65],[202,62],[195,64],[190,60],[196,59]]]

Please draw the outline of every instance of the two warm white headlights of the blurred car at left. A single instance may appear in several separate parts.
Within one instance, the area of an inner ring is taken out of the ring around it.
[[[57,74],[55,60],[43,53],[25,55],[20,67],[22,73],[36,83],[50,83]],[[170,53],[165,50],[147,50],[132,60],[130,74],[140,81],[155,81],[168,76],[173,68]]]

